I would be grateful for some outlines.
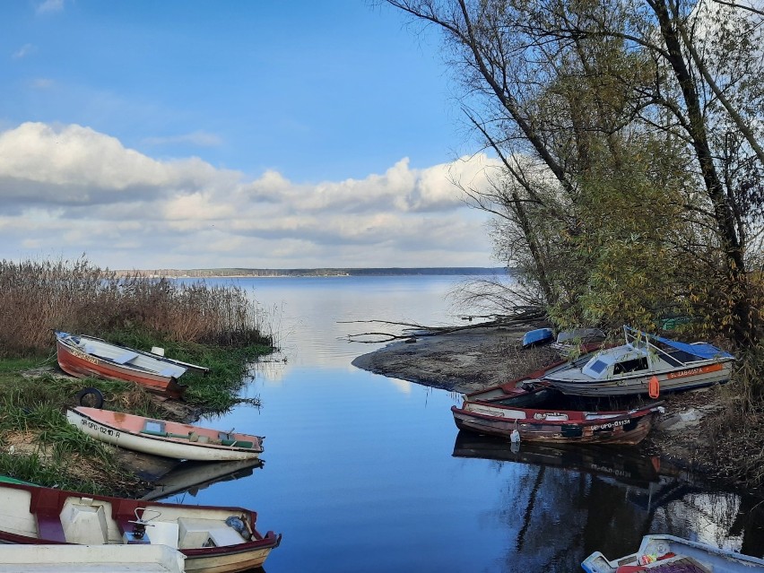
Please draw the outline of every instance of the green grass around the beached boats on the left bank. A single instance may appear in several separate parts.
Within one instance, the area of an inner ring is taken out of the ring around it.
[[[164,346],[170,358],[209,368],[207,375],[187,372],[180,380],[188,386],[185,401],[197,412],[225,412],[237,404],[236,396],[249,365],[258,356],[273,351],[264,344],[230,348],[195,343],[162,344],[150,336],[104,338],[141,349]],[[0,360],[0,474],[48,487],[129,495],[138,487],[138,478],[118,466],[113,447],[82,434],[69,424],[66,408],[77,405],[76,395],[82,388],[94,387],[104,396],[103,407],[109,410],[159,419],[167,419],[169,412],[152,400],[146,390],[130,382],[70,378],[52,373],[35,378],[22,376],[27,369],[55,363],[53,357]],[[254,403],[258,405],[256,400]],[[12,446],[13,453],[10,453]]]

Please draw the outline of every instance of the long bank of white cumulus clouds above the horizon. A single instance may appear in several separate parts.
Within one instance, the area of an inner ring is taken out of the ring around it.
[[[485,214],[453,181],[482,185],[493,167],[404,158],[360,179],[247,179],[88,127],[26,123],[0,133],[0,240],[17,257],[60,248],[110,268],[488,265]]]

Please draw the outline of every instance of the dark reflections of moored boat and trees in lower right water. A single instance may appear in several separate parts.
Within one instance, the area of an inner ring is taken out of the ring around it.
[[[638,448],[511,444],[461,431],[453,456],[488,460],[508,476],[489,500],[491,519],[509,539],[497,570],[523,563],[528,571],[570,573],[594,551],[625,554],[655,532],[706,543],[734,538],[738,546],[729,549],[756,556],[764,547],[755,499],[708,490]]]

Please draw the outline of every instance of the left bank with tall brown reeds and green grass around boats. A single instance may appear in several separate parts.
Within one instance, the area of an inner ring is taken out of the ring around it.
[[[77,261],[0,263],[0,473],[66,489],[129,495],[140,481],[116,450],[68,424],[83,387],[104,408],[166,420],[194,420],[238,402],[248,370],[273,352],[267,316],[237,287],[117,276]],[[166,356],[204,365],[187,372],[182,402],[131,383],[72,378],[57,368],[53,331],[89,334],[131,348],[161,346]],[[255,402],[256,400],[249,400]]]

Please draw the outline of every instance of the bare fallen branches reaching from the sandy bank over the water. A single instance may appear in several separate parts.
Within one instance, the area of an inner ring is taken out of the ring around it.
[[[448,334],[457,331],[471,330],[475,328],[499,328],[499,327],[519,327],[532,326],[543,322],[546,319],[541,307],[517,307],[513,309],[511,315],[487,315],[482,317],[464,316],[463,320],[470,321],[469,325],[454,326],[424,326],[418,323],[397,322],[393,320],[340,320],[339,324],[378,324],[400,327],[399,333],[391,332],[365,332],[359,334],[348,334],[347,339],[352,343],[390,343],[396,340],[412,340],[422,336],[434,336],[436,334]],[[472,322],[474,319],[486,319],[482,322]]]

